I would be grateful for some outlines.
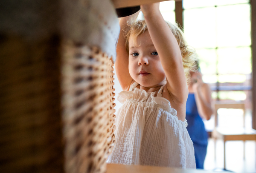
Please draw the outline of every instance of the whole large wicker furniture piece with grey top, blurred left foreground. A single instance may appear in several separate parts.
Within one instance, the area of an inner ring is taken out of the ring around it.
[[[1,4],[0,172],[104,173],[115,141],[113,4]]]

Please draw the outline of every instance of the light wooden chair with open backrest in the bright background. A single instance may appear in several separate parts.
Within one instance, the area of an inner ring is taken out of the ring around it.
[[[219,108],[233,108],[243,110],[243,127],[219,127],[218,126],[218,109]],[[226,169],[226,154],[225,154],[225,142],[226,141],[247,141],[256,140],[256,130],[252,128],[245,128],[245,104],[215,104],[215,129],[212,132],[212,137],[215,140],[215,158],[216,158],[216,139],[224,140],[224,170]],[[245,153],[245,150],[244,150]],[[244,154],[245,156],[245,154]]]

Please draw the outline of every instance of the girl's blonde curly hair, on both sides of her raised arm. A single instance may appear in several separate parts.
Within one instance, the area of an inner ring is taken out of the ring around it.
[[[178,45],[180,46],[180,52],[182,55],[183,68],[186,75],[187,83],[189,84],[190,74],[189,71],[195,71],[196,65],[195,61],[198,60],[195,49],[187,45],[186,40],[184,39],[183,31],[175,24],[172,24],[166,21],[167,25],[172,31],[172,34],[175,36]],[[129,52],[129,39],[132,38],[134,45],[137,44],[137,37],[147,31],[147,25],[145,20],[137,20],[136,22],[128,25],[125,28],[125,47],[127,52]]]

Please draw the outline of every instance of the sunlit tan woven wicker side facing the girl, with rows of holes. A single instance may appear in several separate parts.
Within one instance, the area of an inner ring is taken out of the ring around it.
[[[62,109],[67,173],[104,173],[115,136],[113,60],[98,48],[65,43]]]

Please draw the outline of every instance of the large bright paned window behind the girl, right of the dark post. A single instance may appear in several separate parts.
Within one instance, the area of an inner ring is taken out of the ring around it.
[[[183,0],[183,8],[184,33],[212,98],[251,102],[249,0]]]

